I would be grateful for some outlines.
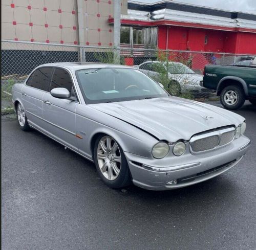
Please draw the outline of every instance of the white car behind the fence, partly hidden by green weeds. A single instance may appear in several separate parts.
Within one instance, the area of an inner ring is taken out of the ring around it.
[[[164,67],[166,71],[166,65],[167,63],[161,61],[146,61],[140,65],[135,65],[134,67],[160,82],[160,79],[158,79],[160,75],[159,66]],[[203,80],[203,76],[196,74],[185,64],[171,61],[168,62],[167,68],[170,84],[176,84],[178,86],[178,91],[174,93],[174,95],[191,93],[195,96],[208,96],[212,93],[211,89],[200,86],[200,81]]]

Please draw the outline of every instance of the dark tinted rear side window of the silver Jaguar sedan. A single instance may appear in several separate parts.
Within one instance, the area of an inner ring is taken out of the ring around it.
[[[41,67],[37,69],[28,79],[26,85],[35,87],[41,90],[49,91],[50,77],[52,74],[51,67]]]

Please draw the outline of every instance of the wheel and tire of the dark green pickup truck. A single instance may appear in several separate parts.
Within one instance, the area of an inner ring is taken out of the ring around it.
[[[238,109],[245,102],[244,90],[236,85],[227,86],[222,90],[220,99],[226,109]]]

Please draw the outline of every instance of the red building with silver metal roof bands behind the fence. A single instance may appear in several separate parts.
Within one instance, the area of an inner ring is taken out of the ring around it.
[[[121,16],[121,25],[121,43],[123,36],[124,43],[131,47],[141,44],[145,48],[256,54],[253,14],[169,1],[155,4],[130,1],[127,15]],[[123,35],[127,28],[130,42]]]

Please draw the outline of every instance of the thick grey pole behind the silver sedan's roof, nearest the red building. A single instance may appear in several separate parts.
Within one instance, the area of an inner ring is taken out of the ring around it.
[[[120,64],[121,0],[114,0],[114,63]]]

